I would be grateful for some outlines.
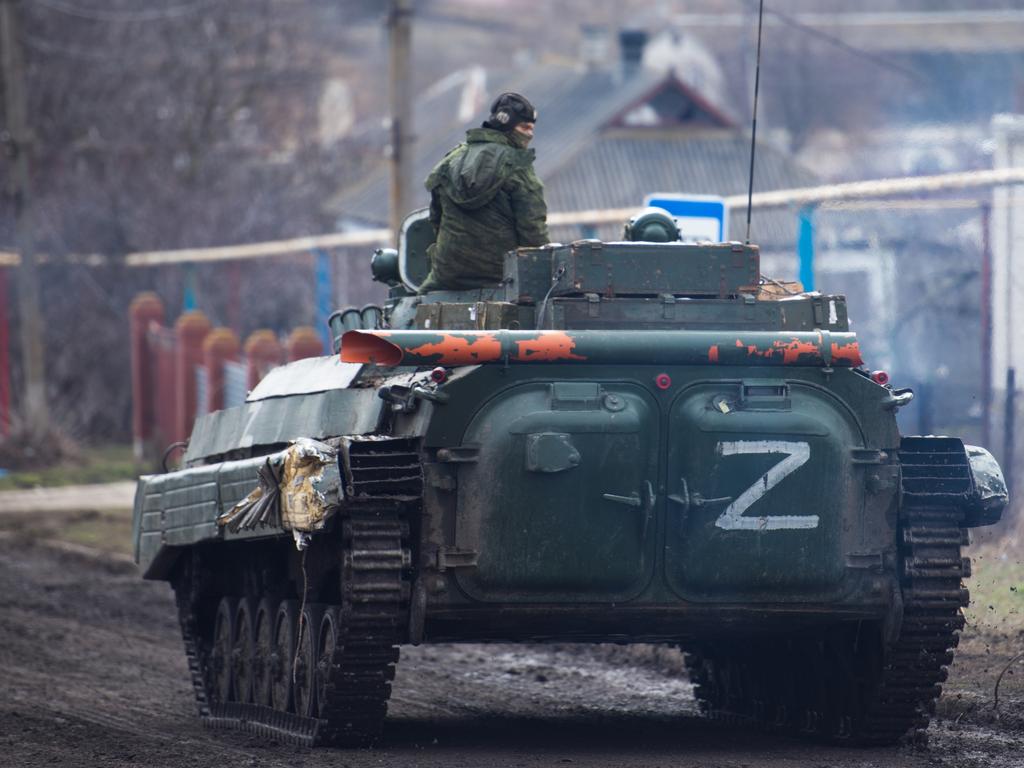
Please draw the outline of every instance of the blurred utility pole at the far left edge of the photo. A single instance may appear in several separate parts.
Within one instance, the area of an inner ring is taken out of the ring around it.
[[[30,434],[49,432],[46,385],[43,379],[43,342],[39,312],[39,275],[33,242],[29,147],[31,143],[25,93],[25,70],[17,38],[18,0],[0,0],[0,69],[3,72],[2,134],[13,159],[11,193],[14,202],[14,242],[22,256],[17,274],[18,321],[22,331],[22,368],[25,378],[23,418]]]

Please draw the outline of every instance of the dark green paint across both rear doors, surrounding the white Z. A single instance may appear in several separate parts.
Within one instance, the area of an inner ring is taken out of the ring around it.
[[[628,585],[642,584],[635,599],[648,603],[868,599],[863,573],[845,558],[884,548],[879,531],[893,535],[895,486],[869,495],[864,469],[853,463],[855,450],[892,450],[898,440],[881,408],[882,387],[848,370],[793,369],[785,379],[760,378],[756,369],[730,370],[739,377],[726,379],[710,367],[616,366],[596,380],[594,373],[481,368],[453,383],[449,404],[434,412],[428,443],[479,445],[476,462],[458,466],[458,545],[480,553],[478,568],[458,577],[467,594],[624,601]],[[659,373],[673,379],[668,391],[654,386]],[[777,394],[780,383],[786,397]],[[569,387],[575,401],[559,394]],[[609,412],[609,396],[629,404]],[[728,402],[729,413],[716,401]],[[545,433],[568,434],[580,463],[550,476],[530,472],[527,440]],[[800,510],[818,514],[819,525],[721,530],[714,523],[722,506],[684,514],[669,500],[682,493],[681,478],[690,496],[735,498],[778,462],[716,454],[719,442],[735,439],[809,443],[810,461],[746,514]]]

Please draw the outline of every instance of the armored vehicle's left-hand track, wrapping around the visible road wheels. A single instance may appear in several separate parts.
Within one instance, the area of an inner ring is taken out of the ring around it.
[[[359,746],[376,740],[387,713],[397,644],[408,628],[409,538],[398,505],[373,509],[360,505],[342,522],[341,604],[324,606],[338,611],[341,637],[331,660],[328,705],[322,705],[315,718],[252,702],[214,700],[207,683],[209,658],[197,642],[195,595],[176,590],[181,636],[203,723],[302,746]]]

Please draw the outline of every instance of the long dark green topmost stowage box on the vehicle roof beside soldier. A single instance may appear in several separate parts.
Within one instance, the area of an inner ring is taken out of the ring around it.
[[[739,243],[601,243],[520,248],[505,257],[507,301],[551,296],[658,295],[726,298],[756,291],[757,246]],[[554,286],[554,287],[552,287]]]

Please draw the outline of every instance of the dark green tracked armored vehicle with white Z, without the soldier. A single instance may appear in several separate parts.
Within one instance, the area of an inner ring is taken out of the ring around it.
[[[998,466],[899,433],[912,392],[842,296],[650,231],[418,296],[414,215],[373,261],[386,306],[332,318],[340,358],[272,372],[141,478],[135,558],[173,585],[207,723],[362,744],[400,645],[558,641],[680,646],[710,716],[927,724]]]

